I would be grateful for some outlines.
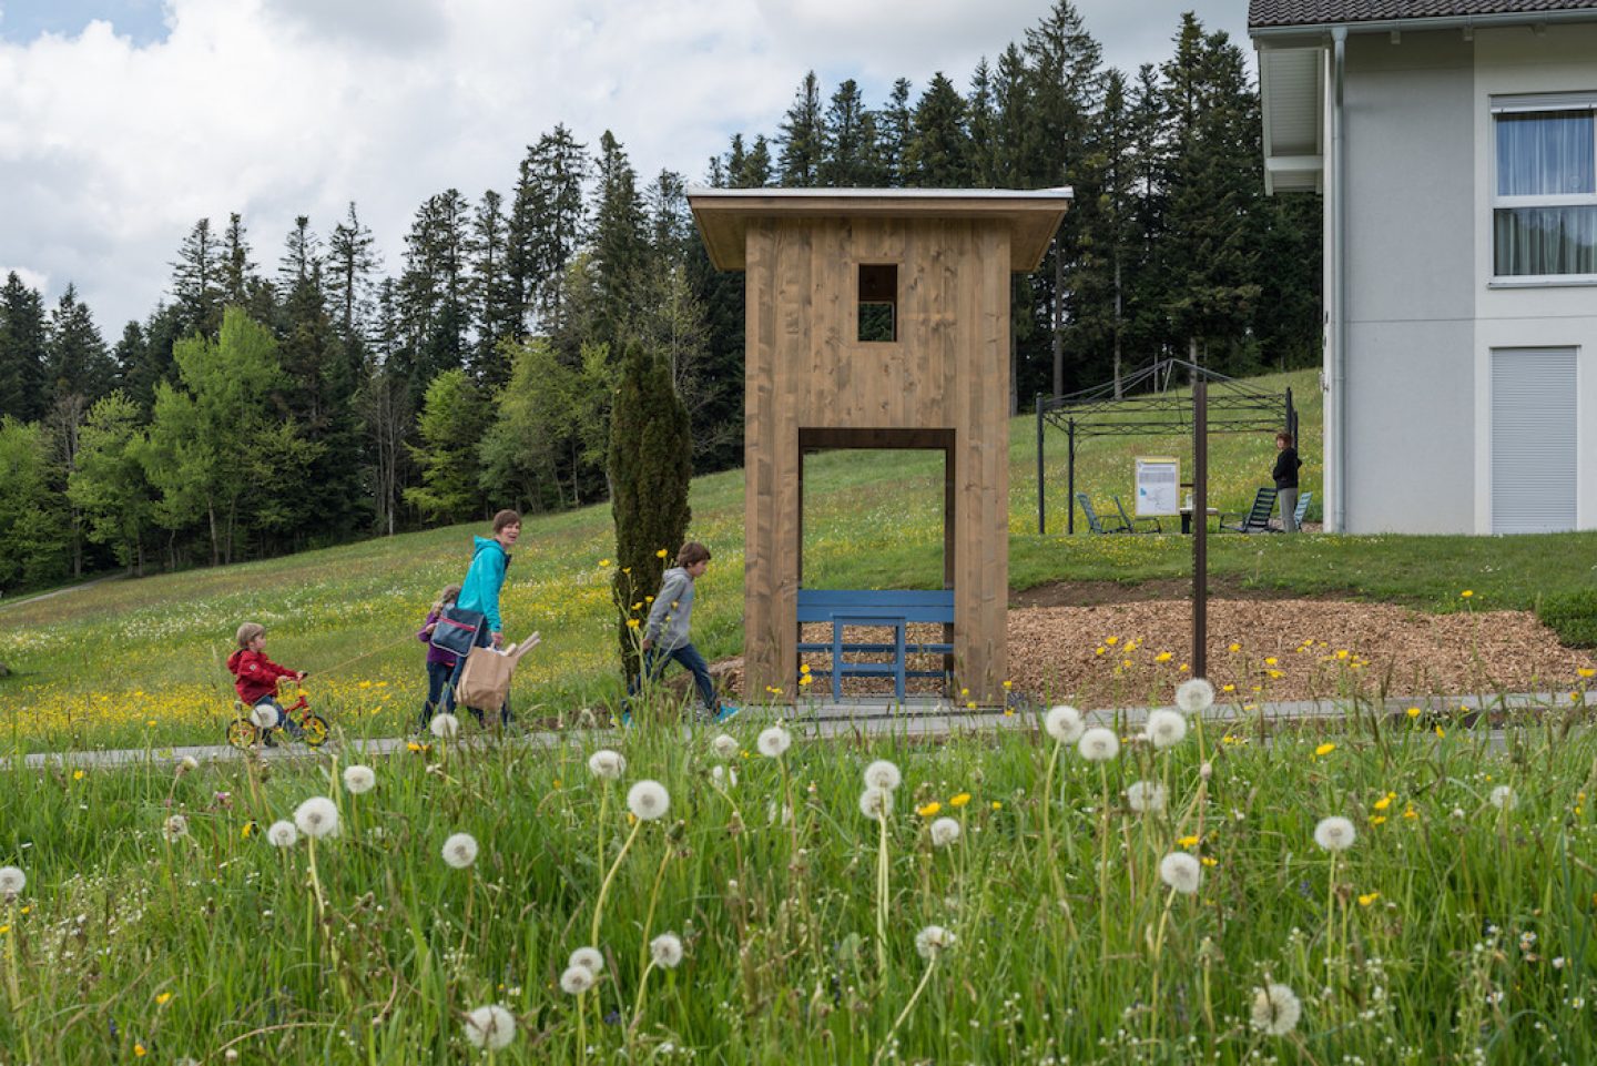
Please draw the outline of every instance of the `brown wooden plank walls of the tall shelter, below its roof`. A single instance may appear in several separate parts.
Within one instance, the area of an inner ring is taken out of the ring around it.
[[[861,344],[861,262],[899,267],[893,344]],[[936,219],[759,219],[747,232],[747,697],[795,690],[800,428],[953,430],[955,670],[1003,697],[1009,585],[1009,230]],[[869,435],[859,435],[869,446]]]

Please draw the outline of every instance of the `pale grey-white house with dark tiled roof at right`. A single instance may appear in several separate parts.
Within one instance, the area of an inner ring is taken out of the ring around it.
[[[1326,198],[1326,527],[1597,529],[1597,2],[1250,0]]]

